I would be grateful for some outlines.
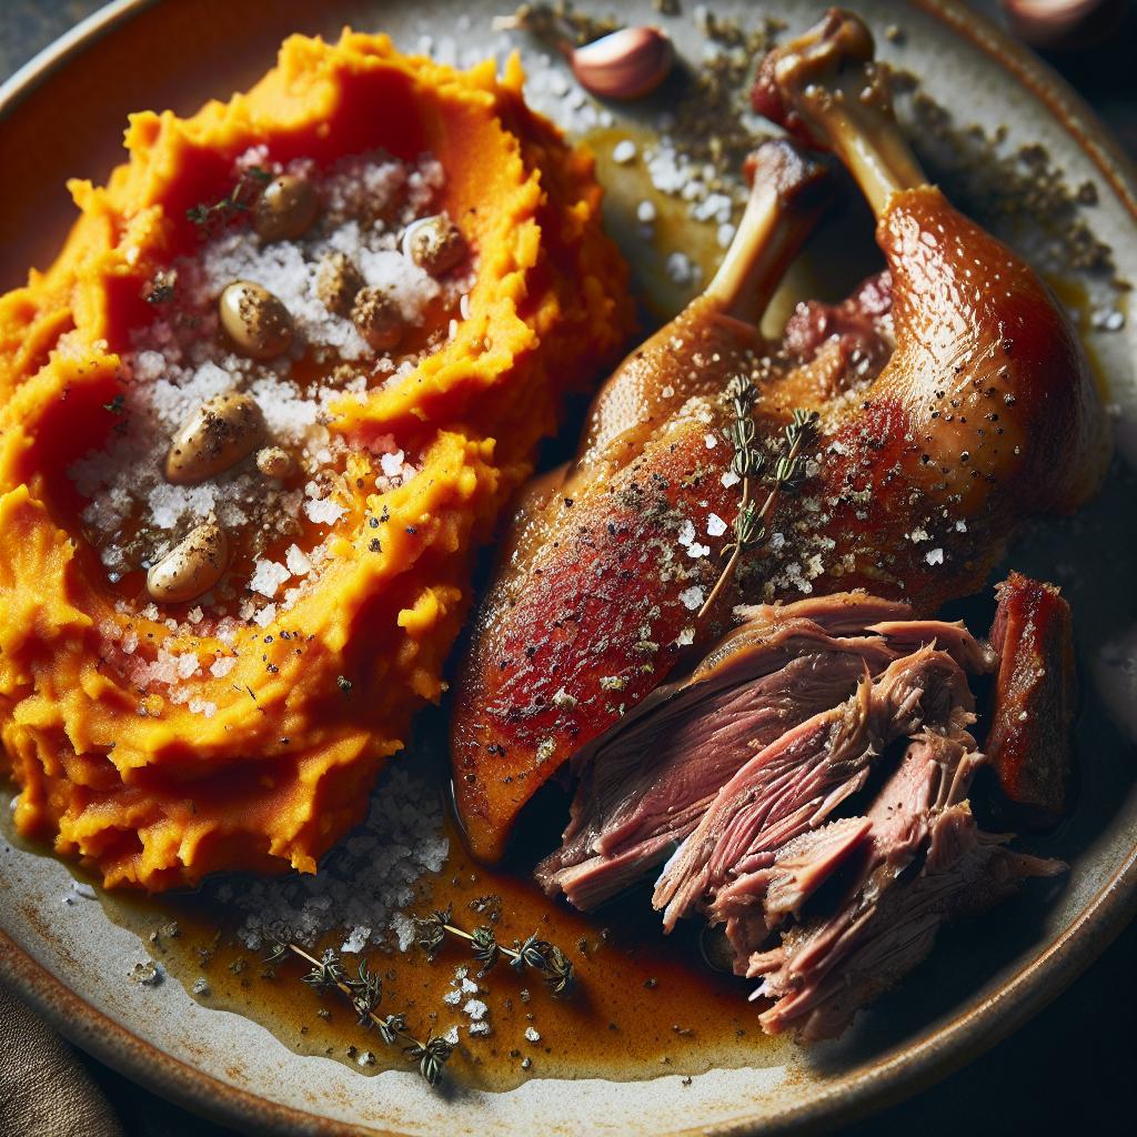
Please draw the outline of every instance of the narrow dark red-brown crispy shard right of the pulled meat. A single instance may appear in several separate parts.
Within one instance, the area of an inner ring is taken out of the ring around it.
[[[1067,807],[1078,699],[1070,606],[1054,584],[1011,573],[990,639],[998,672],[987,755],[1023,818],[1053,824]]]

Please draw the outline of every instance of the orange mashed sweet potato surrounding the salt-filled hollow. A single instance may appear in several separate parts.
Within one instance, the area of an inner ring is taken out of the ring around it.
[[[52,837],[108,886],[315,870],[363,816],[414,711],[440,695],[473,550],[563,393],[624,342],[624,268],[600,232],[591,160],[526,110],[521,84],[515,61],[499,78],[492,63],[458,73],[401,57],[383,36],[292,38],[247,94],[189,119],[133,116],[128,163],[105,188],[72,184],[81,216],[59,258],[0,300],[0,763],[20,786],[20,831]],[[333,432],[393,433],[422,456],[417,474],[375,492],[352,451],[350,508],[317,583],[225,642],[122,604],[66,471],[115,428],[121,355],[153,316],[143,287],[199,240],[186,210],[222,197],[254,144],[324,165],[431,152],[478,272],[442,347],[332,406]],[[197,654],[192,698],[131,681],[111,649],[127,631],[143,659]]]

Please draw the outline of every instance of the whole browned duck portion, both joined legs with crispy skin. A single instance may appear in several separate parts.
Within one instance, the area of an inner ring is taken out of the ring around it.
[[[764,61],[755,102],[848,166],[888,272],[849,301],[864,334],[823,339],[805,360],[765,358],[713,283],[601,390],[573,468],[523,506],[459,682],[457,800],[484,858],[567,757],[721,636],[733,605],[862,588],[929,615],[978,590],[1024,518],[1074,509],[1104,472],[1073,330],[1029,266],[927,184],[864,25],[830,11]],[[767,232],[792,227],[788,213],[782,201]],[[794,244],[755,255],[769,243],[744,218],[724,264],[755,307]],[[820,413],[819,437],[798,493],[716,591],[740,500],[716,392],[739,372],[771,462],[795,410]]]

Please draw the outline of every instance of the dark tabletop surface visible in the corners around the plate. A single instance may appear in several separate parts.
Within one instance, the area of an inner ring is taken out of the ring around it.
[[[0,80],[100,6],[101,0],[0,0]],[[504,3],[503,10],[508,7]],[[996,14],[994,3],[974,7]],[[1120,30],[1104,44],[1046,58],[1137,158],[1137,7],[1127,7]],[[1135,972],[1137,923],[1013,1037],[931,1089],[872,1119],[846,1126],[841,1132],[847,1137],[960,1137],[1137,1131]],[[82,1057],[130,1137],[225,1137],[234,1132],[169,1105],[93,1059]],[[534,1137],[538,1132],[534,1127]]]

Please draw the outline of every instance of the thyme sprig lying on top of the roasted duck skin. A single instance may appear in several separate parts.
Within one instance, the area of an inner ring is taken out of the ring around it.
[[[818,437],[818,412],[797,409],[794,417],[786,424],[782,439],[782,451],[774,463],[773,471],[766,473],[766,458],[755,446],[757,429],[750,412],[757,398],[757,391],[748,375],[736,375],[727,384],[727,398],[730,400],[733,421],[727,428],[727,438],[735,447],[730,468],[742,479],[742,496],[735,515],[733,540],[723,546],[722,556],[727,564],[719,574],[719,580],[711,589],[711,595],[703,601],[696,621],[702,621],[713,607],[722,590],[730,582],[738,566],[739,557],[757,548],[766,537],[766,522],[770,520],[782,493],[794,492],[802,482],[805,458],[802,451]],[[752,481],[766,478],[770,490],[760,506],[750,497]]]

